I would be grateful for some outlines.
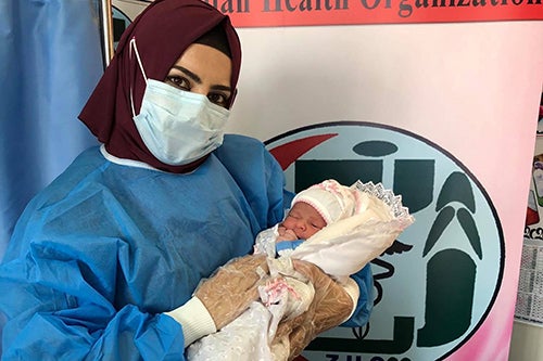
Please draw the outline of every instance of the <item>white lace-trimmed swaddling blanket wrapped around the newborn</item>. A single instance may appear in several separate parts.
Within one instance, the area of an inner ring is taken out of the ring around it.
[[[287,256],[275,258],[277,225],[258,235],[255,253],[267,254],[269,267],[269,273],[263,274],[266,284],[258,287],[260,301],[219,332],[193,343],[187,349],[189,360],[288,360],[288,337],[274,339],[277,326],[307,310],[315,294],[291,259],[318,266],[344,285],[356,305],[349,275],[383,253],[414,219],[401,196],[382,184],[357,181],[351,188],[357,191],[355,215],[325,227]]]

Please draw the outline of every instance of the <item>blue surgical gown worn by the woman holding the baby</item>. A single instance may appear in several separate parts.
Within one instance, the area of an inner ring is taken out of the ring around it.
[[[283,176],[260,141],[226,136],[197,170],[112,163],[98,147],[27,206],[0,266],[4,360],[182,360],[162,312],[282,219]],[[371,274],[353,318],[367,321]]]

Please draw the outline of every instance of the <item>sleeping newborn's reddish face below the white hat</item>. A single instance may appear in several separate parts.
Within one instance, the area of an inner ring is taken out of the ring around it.
[[[326,221],[320,214],[307,203],[298,202],[282,221],[282,227],[293,231],[298,238],[307,240],[323,228]]]

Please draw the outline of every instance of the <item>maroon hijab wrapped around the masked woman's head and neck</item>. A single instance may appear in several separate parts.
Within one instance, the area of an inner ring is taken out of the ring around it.
[[[239,38],[228,16],[212,5],[201,0],[155,0],[128,26],[114,57],[79,114],[79,119],[105,144],[110,154],[176,173],[190,171],[205,160],[204,157],[188,165],[171,166],[156,159],[147,149],[134,124],[130,106],[132,87],[134,105],[139,114],[146,80],[136,56],[129,54],[129,41],[136,38],[147,76],[163,81],[185,50],[217,25],[224,28],[228,39],[232,59],[230,86],[236,89],[241,66]]]

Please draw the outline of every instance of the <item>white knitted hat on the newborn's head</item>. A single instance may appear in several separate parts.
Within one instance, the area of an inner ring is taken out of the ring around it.
[[[356,197],[355,190],[328,179],[298,193],[291,207],[298,202],[306,203],[323,216],[326,224],[331,224],[354,215]]]

